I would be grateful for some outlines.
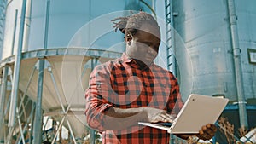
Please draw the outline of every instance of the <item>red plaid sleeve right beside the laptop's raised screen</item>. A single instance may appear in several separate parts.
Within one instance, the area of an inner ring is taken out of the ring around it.
[[[170,83],[171,83],[171,92],[166,105],[166,110],[168,112],[171,112],[172,114],[177,114],[183,107],[183,100],[179,91],[177,78],[175,78],[172,72],[170,72],[169,75],[170,75]]]

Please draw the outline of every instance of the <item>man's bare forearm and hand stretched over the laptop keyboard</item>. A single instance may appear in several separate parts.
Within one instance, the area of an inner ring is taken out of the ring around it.
[[[172,123],[176,115],[171,115],[165,110],[153,107],[138,107],[122,109],[118,107],[109,107],[104,113],[106,116],[104,126],[108,130],[122,130],[137,122],[146,121],[149,123]]]

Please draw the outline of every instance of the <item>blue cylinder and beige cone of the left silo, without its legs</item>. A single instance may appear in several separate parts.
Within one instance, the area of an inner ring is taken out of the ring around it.
[[[19,49],[23,2],[10,1],[7,8],[1,66],[9,62],[12,71],[14,55]],[[32,101],[37,100],[38,60],[45,60],[44,115],[61,121],[67,111],[74,135],[82,136],[86,123],[84,89],[90,72],[96,64],[117,58],[125,50],[123,35],[114,32],[111,20],[139,9],[150,11],[136,0],[26,0],[19,74],[21,92]]]

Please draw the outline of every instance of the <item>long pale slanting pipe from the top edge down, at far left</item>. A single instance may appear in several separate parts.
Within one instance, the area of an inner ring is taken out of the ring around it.
[[[26,12],[26,0],[23,0],[22,10],[21,10],[21,19],[20,19],[20,34],[19,34],[19,42],[17,54],[15,55],[15,72],[13,79],[13,86],[11,91],[11,103],[9,109],[9,127],[15,126],[15,116],[16,116],[16,105],[17,105],[17,97],[19,91],[19,81],[20,81],[20,63],[21,63],[21,52],[23,45],[23,32],[24,32],[24,23],[25,23],[25,12]]]

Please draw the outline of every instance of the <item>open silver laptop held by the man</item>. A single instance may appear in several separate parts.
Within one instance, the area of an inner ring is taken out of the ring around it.
[[[206,124],[215,124],[229,99],[208,95],[189,95],[188,100],[170,123],[138,122],[145,126],[167,130],[172,134],[196,134]]]

